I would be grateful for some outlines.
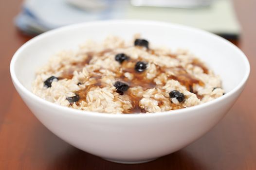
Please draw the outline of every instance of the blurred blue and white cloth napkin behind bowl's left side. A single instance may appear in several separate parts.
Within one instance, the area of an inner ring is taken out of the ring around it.
[[[79,22],[124,18],[129,0],[106,1],[108,6],[104,9],[82,10],[66,0],[26,0],[15,23],[27,34],[40,34]]]

